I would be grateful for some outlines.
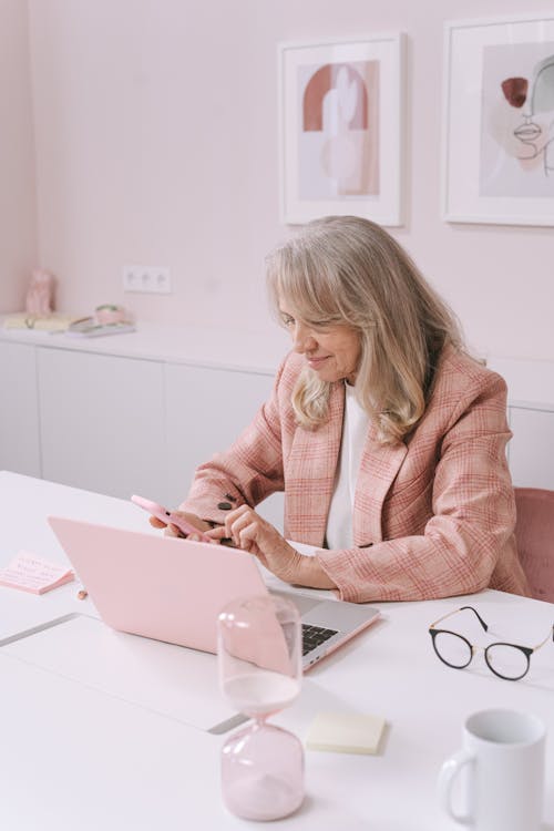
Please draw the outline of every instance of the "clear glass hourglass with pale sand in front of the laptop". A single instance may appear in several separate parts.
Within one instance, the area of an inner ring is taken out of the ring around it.
[[[223,609],[217,628],[222,691],[253,719],[223,748],[224,802],[244,819],[286,817],[304,799],[304,750],[296,736],[267,718],[300,693],[298,609],[279,596],[246,597]]]

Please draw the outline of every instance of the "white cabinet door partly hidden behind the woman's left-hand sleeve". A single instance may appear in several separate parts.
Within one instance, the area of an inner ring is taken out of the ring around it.
[[[226,450],[269,397],[273,377],[168,363],[166,371],[167,469],[171,504],[183,501],[196,468]],[[283,494],[259,513],[283,529]]]

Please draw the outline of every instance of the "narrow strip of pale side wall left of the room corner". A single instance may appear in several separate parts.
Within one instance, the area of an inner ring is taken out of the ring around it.
[[[21,308],[37,258],[27,3],[0,0],[0,311]]]

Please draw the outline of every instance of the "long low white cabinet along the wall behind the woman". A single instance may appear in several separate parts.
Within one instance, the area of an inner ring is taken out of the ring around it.
[[[277,366],[257,340],[229,356],[201,335],[144,327],[129,339],[52,346],[47,334],[0,329],[0,469],[178,504],[198,464],[267,399]],[[490,366],[509,386],[514,484],[554,490],[554,365]],[[283,503],[276,494],[259,506],[279,529]]]

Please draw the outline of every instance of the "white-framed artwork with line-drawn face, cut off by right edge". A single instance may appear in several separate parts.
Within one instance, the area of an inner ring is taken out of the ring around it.
[[[442,212],[554,225],[554,12],[445,24]]]

